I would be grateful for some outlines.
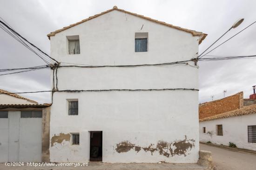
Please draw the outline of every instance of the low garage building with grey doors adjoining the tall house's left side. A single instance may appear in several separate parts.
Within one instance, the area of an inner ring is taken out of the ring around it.
[[[49,160],[49,106],[0,89],[0,163]]]

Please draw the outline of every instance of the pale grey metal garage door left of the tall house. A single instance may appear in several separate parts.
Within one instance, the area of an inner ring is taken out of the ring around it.
[[[42,111],[0,111],[0,162],[41,162]]]

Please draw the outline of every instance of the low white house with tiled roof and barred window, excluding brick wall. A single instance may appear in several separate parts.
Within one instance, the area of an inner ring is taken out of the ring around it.
[[[200,141],[256,151],[256,104],[203,118]]]

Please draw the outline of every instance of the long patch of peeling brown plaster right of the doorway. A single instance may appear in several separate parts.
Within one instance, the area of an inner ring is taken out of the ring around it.
[[[151,155],[153,155],[153,152],[158,151],[160,155],[163,155],[165,157],[169,156],[175,156],[175,155],[184,155],[187,156],[187,152],[191,151],[193,148],[195,148],[195,140],[194,139],[188,139],[185,135],[185,139],[181,141],[174,141],[174,142],[166,142],[163,140],[159,140],[156,144],[150,144],[148,147],[141,147],[141,146],[135,146],[135,144],[127,141],[122,141],[119,144],[116,144],[115,151],[118,153],[122,152],[128,152],[132,149],[134,149],[137,153],[143,149],[145,152],[150,151]]]

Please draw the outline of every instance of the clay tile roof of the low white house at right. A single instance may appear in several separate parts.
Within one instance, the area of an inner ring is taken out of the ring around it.
[[[202,122],[202,121],[208,121],[208,120],[224,119],[224,118],[230,118],[234,116],[242,116],[242,115],[254,114],[254,113],[256,113],[256,104],[245,106],[243,108],[239,108],[229,112],[217,114],[215,116],[203,118],[203,119],[200,119],[199,121]]]

